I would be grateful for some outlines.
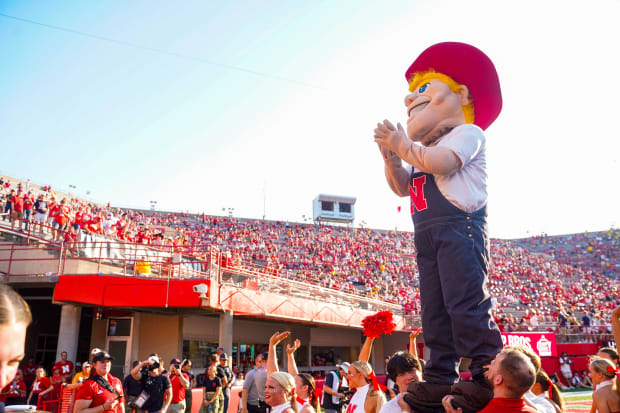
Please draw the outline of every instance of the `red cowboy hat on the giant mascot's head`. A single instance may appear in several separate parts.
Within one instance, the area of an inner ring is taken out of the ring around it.
[[[445,42],[425,51],[409,66],[407,82],[417,72],[433,69],[465,85],[474,102],[474,124],[488,128],[502,111],[502,91],[491,59],[474,46]]]

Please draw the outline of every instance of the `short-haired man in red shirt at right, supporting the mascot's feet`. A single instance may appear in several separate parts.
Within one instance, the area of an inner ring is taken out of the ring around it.
[[[509,348],[500,351],[485,376],[493,386],[493,398],[479,413],[537,412],[523,398],[536,381],[536,369],[521,351]],[[461,413],[462,409],[455,406],[453,399],[452,395],[443,398],[446,413]]]

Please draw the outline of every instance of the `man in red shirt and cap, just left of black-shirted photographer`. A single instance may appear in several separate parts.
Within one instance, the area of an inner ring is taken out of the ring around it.
[[[93,357],[95,374],[75,395],[75,413],[125,413],[123,384],[110,374],[113,358],[105,351]]]

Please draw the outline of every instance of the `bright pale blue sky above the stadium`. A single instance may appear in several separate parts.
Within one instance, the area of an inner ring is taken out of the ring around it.
[[[420,51],[463,41],[504,96],[491,234],[618,226],[617,0],[218,3],[0,2],[0,174],[295,221],[319,193],[354,196],[358,224],[412,230],[372,130],[405,119]]]

